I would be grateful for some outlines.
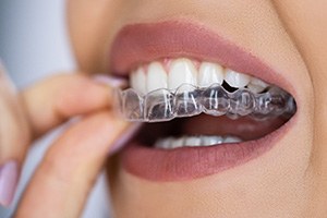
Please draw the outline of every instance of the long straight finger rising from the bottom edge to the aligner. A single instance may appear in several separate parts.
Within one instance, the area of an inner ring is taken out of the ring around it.
[[[68,130],[36,170],[17,217],[78,217],[110,146],[126,128],[111,113],[99,112]]]

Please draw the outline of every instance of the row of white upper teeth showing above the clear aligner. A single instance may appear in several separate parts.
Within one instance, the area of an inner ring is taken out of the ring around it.
[[[223,69],[217,63],[202,62],[196,68],[192,60],[180,58],[165,66],[158,61],[150,62],[147,68],[140,66],[132,72],[131,87],[144,95],[159,88],[175,89],[182,84],[207,87],[211,84],[221,85],[223,81],[234,88],[246,86],[253,93],[261,93],[268,86],[262,80]]]

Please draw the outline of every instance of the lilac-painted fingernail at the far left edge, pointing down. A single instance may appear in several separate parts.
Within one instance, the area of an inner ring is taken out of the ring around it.
[[[19,165],[10,160],[0,167],[0,204],[10,206],[16,190],[19,180]]]

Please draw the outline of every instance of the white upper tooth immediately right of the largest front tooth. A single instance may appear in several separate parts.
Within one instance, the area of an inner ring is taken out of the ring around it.
[[[214,83],[222,84],[223,69],[216,63],[203,62],[198,70],[198,86],[207,87]]]

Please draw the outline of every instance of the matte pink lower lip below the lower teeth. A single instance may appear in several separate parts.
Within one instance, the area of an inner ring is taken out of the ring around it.
[[[209,147],[181,147],[170,150],[131,143],[121,152],[123,168],[152,181],[183,181],[219,173],[262,156],[281,141],[296,114],[278,130],[257,140]]]

